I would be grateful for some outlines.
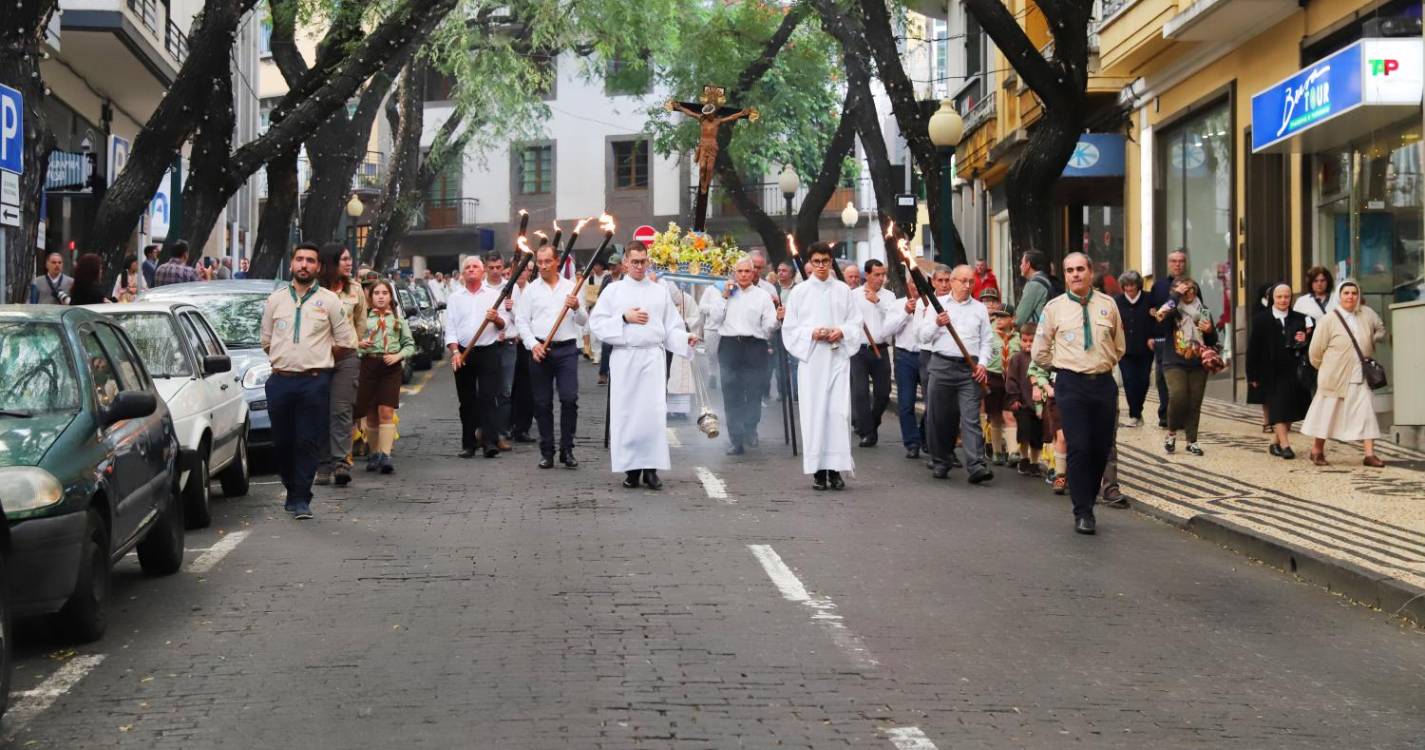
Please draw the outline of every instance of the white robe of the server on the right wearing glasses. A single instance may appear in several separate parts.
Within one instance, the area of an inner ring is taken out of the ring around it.
[[[812,341],[815,328],[839,328],[841,346]],[[792,287],[782,321],[782,342],[801,364],[802,472],[851,472],[851,355],[865,344],[861,312],[851,287],[815,277]]]

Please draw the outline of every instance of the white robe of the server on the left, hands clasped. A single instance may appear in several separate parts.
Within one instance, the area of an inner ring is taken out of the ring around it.
[[[624,322],[643,308],[648,322]],[[668,469],[667,362],[664,351],[688,358],[688,331],[661,284],[624,278],[604,289],[589,315],[589,328],[613,345],[608,358],[608,456],[613,471]]]

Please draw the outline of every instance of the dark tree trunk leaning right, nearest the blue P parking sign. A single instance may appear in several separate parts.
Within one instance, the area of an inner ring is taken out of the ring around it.
[[[148,210],[174,154],[182,148],[207,111],[200,103],[209,100],[212,80],[231,77],[228,56],[237,38],[238,23],[255,3],[256,0],[209,0],[194,19],[188,60],[138,131],[128,165],[104,192],[94,215],[90,250],[108,258],[108,265],[118,262],[115,258],[123,255],[124,244]],[[222,104],[231,107],[232,98],[224,98]],[[209,225],[208,230],[211,228]]]

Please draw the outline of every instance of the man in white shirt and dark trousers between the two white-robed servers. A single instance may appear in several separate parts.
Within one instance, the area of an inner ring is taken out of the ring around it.
[[[732,443],[727,455],[740,456],[757,445],[757,423],[762,419],[762,389],[770,376],[767,339],[777,329],[777,307],[757,281],[751,258],[734,267],[734,279],[722,294],[704,297],[708,322],[722,337],[718,344],[718,369],[722,381],[722,406],[727,409],[727,436]]]

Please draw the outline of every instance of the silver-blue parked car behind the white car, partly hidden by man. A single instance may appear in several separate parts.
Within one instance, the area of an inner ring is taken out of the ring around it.
[[[232,375],[248,404],[248,449],[272,446],[266,381],[272,364],[262,351],[262,305],[282,281],[269,278],[197,281],[148,289],[140,302],[188,302],[202,311],[232,359]]]

